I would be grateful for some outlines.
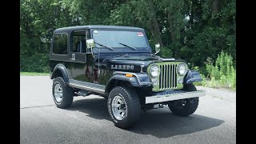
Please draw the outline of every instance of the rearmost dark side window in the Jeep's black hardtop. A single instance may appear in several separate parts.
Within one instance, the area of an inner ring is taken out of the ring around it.
[[[54,54],[67,54],[67,34],[54,35]]]

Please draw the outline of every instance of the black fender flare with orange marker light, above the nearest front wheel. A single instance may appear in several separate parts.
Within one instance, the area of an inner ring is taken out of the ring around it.
[[[147,74],[134,74],[133,77],[126,77],[125,74],[114,74],[113,77],[110,78],[109,82],[107,82],[106,91],[110,90],[110,87],[113,87],[113,82],[116,80],[130,82],[130,86],[136,87],[152,85]]]

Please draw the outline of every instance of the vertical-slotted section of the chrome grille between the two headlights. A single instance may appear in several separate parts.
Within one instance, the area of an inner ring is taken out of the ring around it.
[[[177,87],[177,64],[160,65],[159,89],[174,89]]]

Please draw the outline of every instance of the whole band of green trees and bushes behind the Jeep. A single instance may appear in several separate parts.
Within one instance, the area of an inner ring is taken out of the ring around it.
[[[162,56],[185,59],[210,80],[225,79],[223,66],[235,72],[235,0],[21,0],[20,70],[48,72],[52,32],[78,25],[142,27]],[[220,66],[220,54],[232,61]]]

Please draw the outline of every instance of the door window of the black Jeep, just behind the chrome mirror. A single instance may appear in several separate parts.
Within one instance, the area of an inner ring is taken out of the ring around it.
[[[72,33],[71,51],[86,53],[86,40],[90,38],[88,30],[79,30]]]

